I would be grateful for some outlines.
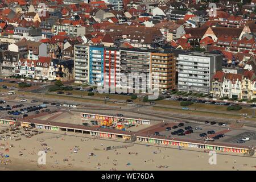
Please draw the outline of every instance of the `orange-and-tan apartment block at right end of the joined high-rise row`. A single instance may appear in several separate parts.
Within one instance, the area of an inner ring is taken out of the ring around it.
[[[175,60],[174,53],[151,52],[150,72],[151,87],[155,88],[154,77],[158,77],[158,88],[160,91],[175,88]]]

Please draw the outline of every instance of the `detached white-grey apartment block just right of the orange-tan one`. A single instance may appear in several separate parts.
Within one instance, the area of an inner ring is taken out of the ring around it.
[[[177,60],[178,90],[208,94],[214,73],[221,71],[222,55],[191,52],[179,55]]]

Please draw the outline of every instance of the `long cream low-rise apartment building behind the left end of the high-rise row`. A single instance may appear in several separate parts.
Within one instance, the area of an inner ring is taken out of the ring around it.
[[[58,35],[59,32],[66,32],[68,35],[72,36],[84,36],[85,27],[80,25],[73,26],[71,24],[54,24],[53,25],[53,34]]]

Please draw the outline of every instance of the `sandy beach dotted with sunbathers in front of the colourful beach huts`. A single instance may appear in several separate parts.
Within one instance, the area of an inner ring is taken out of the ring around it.
[[[2,129],[4,129],[2,127]],[[203,150],[164,146],[133,146],[106,151],[108,146],[131,145],[122,139],[95,139],[63,131],[44,132],[21,140],[0,140],[1,170],[255,170],[254,157],[217,152],[217,164]],[[39,140],[44,139],[44,140]],[[12,146],[12,147],[10,147]],[[8,148],[8,150],[7,150]],[[46,153],[46,165],[38,165],[38,152]],[[20,155],[22,153],[22,155]],[[5,157],[8,155],[9,157]]]

